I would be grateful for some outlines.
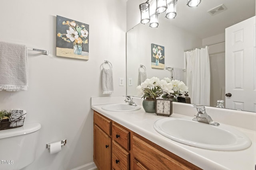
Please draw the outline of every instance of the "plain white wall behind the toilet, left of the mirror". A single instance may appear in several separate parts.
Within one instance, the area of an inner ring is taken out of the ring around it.
[[[92,162],[90,98],[109,96],[101,88],[105,59],[113,65],[111,96],[126,94],[126,86],[118,86],[119,77],[126,76],[125,1],[12,0],[0,6],[0,41],[49,51],[48,56],[28,51],[27,91],[0,92],[0,109],[25,109],[25,123],[42,125],[36,160],[25,169],[69,170]],[[90,25],[88,61],[56,57],[56,15]],[[61,139],[67,145],[50,155],[46,143]]]

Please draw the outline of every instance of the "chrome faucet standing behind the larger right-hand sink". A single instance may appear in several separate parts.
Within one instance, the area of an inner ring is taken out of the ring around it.
[[[193,105],[192,107],[196,107],[197,110],[197,113],[194,114],[194,116],[196,116],[193,119],[194,121],[200,121],[214,126],[220,125],[220,123],[213,121],[212,118],[206,113],[203,105]]]

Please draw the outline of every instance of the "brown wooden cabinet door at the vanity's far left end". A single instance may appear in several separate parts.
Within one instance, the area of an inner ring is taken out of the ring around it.
[[[99,170],[110,170],[111,138],[94,125],[94,162]]]

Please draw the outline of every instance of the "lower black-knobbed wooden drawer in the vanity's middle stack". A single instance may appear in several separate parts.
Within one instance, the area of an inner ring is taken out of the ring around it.
[[[130,154],[115,141],[112,141],[112,169],[129,170]]]

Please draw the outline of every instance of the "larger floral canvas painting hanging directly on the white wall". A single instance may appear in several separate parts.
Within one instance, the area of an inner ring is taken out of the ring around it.
[[[57,16],[56,55],[89,59],[89,25]]]

